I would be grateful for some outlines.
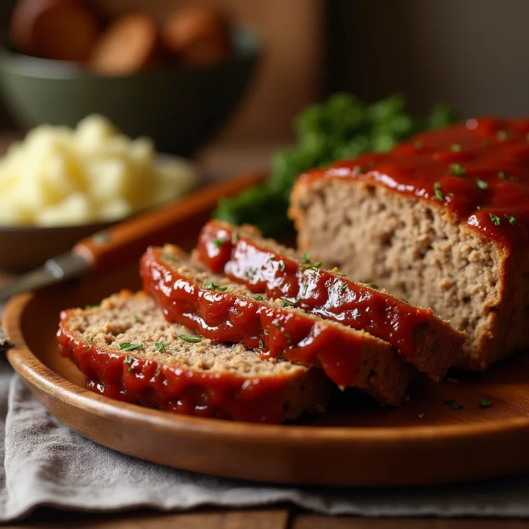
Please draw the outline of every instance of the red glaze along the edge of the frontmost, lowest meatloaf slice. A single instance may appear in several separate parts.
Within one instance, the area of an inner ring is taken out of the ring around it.
[[[109,353],[74,338],[65,329],[65,318],[68,311],[61,315],[57,333],[61,354],[79,367],[90,391],[197,417],[269,423],[285,418],[282,405],[291,375],[238,377],[162,365],[134,357],[134,352]],[[125,362],[127,356],[134,360]]]

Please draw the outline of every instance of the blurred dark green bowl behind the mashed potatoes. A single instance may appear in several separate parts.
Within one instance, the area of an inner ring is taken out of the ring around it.
[[[205,68],[178,65],[129,76],[103,76],[81,65],[0,49],[3,98],[23,129],[74,127],[94,112],[133,138],[149,136],[159,152],[191,156],[216,134],[242,98],[260,55],[251,30],[233,34],[234,54]]]

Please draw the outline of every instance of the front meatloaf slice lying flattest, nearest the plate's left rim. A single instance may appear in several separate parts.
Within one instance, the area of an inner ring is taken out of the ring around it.
[[[174,413],[281,422],[329,400],[331,384],[318,369],[194,335],[167,322],[145,293],[63,311],[57,340],[88,389]]]

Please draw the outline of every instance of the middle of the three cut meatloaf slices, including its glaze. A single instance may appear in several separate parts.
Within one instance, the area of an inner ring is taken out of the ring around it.
[[[141,275],[167,320],[207,338],[320,367],[335,384],[361,388],[382,403],[400,404],[411,380],[412,370],[388,343],[304,313],[287,300],[254,295],[172,245],[149,249]]]

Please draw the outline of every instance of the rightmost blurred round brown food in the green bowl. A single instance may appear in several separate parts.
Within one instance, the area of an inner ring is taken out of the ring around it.
[[[225,17],[207,8],[183,8],[172,13],[163,28],[169,52],[189,65],[208,65],[229,55],[229,25]]]

